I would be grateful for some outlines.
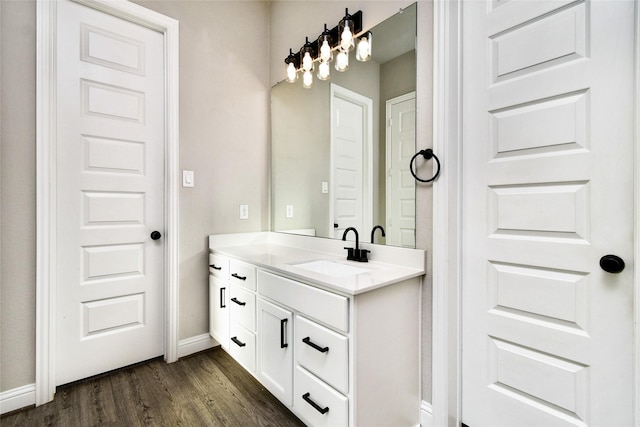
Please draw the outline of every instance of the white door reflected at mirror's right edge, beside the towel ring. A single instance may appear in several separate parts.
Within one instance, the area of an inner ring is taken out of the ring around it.
[[[416,93],[387,101],[387,244],[414,248],[416,185],[409,162],[416,147]]]

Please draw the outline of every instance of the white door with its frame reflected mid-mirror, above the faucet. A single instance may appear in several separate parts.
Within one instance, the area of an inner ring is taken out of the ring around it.
[[[331,226],[338,239],[349,227],[372,227],[372,124],[370,98],[331,85]]]

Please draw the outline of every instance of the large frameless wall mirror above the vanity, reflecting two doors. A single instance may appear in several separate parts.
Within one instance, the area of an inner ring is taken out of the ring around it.
[[[370,61],[271,91],[273,231],[415,247],[416,4],[370,31]]]

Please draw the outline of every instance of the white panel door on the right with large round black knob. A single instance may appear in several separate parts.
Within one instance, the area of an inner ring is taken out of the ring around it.
[[[463,22],[462,420],[633,425],[634,2]]]

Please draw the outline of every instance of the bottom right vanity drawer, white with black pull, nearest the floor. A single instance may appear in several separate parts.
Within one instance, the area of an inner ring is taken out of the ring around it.
[[[349,423],[349,400],[300,366],[294,373],[293,394],[293,409],[306,424],[335,427]]]

